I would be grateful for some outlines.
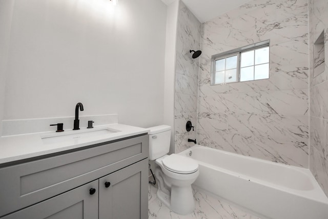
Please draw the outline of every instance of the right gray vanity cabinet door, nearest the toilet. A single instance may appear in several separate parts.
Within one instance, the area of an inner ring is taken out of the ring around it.
[[[99,179],[99,219],[146,218],[148,159]]]

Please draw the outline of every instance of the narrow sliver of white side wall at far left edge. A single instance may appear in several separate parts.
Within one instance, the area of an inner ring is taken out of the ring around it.
[[[0,0],[0,121],[3,120],[5,109],[6,65],[8,60],[13,3],[13,1]],[[1,133],[2,126],[0,125],[0,136]]]

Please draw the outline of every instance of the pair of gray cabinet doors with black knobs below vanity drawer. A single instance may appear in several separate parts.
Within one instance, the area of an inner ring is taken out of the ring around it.
[[[145,159],[2,219],[96,219],[98,215],[99,219],[144,219],[148,217],[147,173]]]

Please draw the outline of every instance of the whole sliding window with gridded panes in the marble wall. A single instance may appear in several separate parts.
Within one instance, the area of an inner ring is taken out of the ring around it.
[[[212,56],[212,85],[269,78],[269,41]]]

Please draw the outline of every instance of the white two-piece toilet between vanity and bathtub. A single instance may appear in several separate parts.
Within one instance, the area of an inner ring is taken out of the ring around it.
[[[159,166],[155,169],[158,182],[157,197],[178,214],[191,213],[195,208],[191,184],[199,175],[198,163],[189,157],[171,154],[171,127],[149,128],[149,159]]]

